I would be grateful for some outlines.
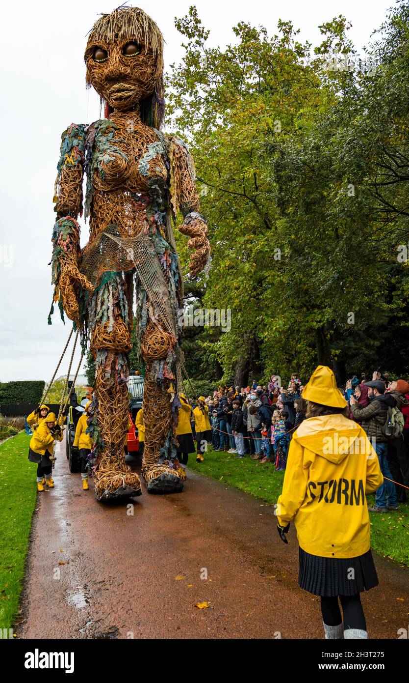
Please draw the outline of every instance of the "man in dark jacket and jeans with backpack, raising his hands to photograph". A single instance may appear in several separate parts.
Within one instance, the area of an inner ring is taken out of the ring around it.
[[[389,469],[388,462],[388,443],[387,437],[382,432],[382,427],[387,419],[389,406],[396,407],[396,399],[385,394],[385,385],[382,380],[372,380],[365,382],[368,389],[369,404],[363,408],[355,399],[350,396],[350,410],[355,418],[359,419],[365,430],[369,441],[371,441],[376,454],[378,455],[380,471],[384,476],[384,483],[376,491],[375,505],[369,507],[370,512],[387,512],[387,510],[397,510],[397,495],[395,484],[391,479],[393,476]]]

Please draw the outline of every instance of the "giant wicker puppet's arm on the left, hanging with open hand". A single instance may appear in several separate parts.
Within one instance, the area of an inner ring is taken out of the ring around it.
[[[93,291],[93,285],[80,273],[80,226],[82,214],[82,179],[84,176],[85,126],[71,124],[61,136],[61,155],[55,182],[57,222],[52,231],[52,284],[54,301],[76,325],[79,324],[80,288]],[[49,319],[50,322],[50,319]]]

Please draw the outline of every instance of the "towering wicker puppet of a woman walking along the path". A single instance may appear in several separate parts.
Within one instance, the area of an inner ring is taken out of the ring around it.
[[[103,14],[89,33],[85,62],[87,84],[100,95],[106,118],[72,124],[62,135],[52,282],[61,316],[65,311],[80,329],[82,348],[88,340],[95,357],[89,417],[95,495],[140,494],[124,448],[132,331],[146,364],[142,475],[149,491],[181,490],[174,430],[182,390],[183,282],[172,232],[179,213],[179,230],[190,238],[192,277],[210,254],[193,160],[183,142],[160,132],[163,38],[145,12],[119,8]],[[84,172],[90,236],[81,250],[77,219]]]

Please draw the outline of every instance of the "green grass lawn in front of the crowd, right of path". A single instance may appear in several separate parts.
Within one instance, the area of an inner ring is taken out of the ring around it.
[[[209,448],[204,454],[204,462],[198,463],[194,455],[190,455],[189,467],[271,505],[277,503],[282,491],[284,472],[276,472],[271,463],[260,465],[249,456],[238,459],[237,454],[215,453]],[[372,506],[375,504],[375,497],[367,496],[367,501]],[[409,566],[409,503],[401,503],[397,512],[369,512],[369,516],[372,525],[372,550],[401,565]]]

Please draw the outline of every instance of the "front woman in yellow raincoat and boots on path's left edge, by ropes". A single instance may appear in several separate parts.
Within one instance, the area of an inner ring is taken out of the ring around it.
[[[63,432],[57,425],[54,413],[48,413],[38,425],[31,436],[29,447],[29,460],[37,463],[37,490],[44,491],[43,481],[48,488],[54,488],[54,479],[51,477],[54,442],[62,441]]]

